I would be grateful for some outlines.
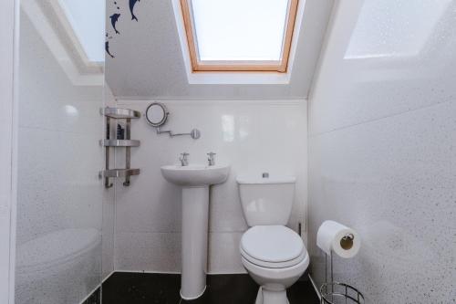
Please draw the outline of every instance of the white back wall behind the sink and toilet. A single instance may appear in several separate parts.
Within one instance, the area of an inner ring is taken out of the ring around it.
[[[116,270],[181,271],[181,190],[166,182],[160,167],[178,162],[181,152],[190,162],[232,166],[226,183],[211,190],[209,271],[244,272],[239,240],[247,228],[235,178],[240,173],[297,176],[295,211],[290,226],[304,222],[306,210],[306,100],[161,100],[171,114],[163,129],[198,128],[201,139],[158,135],[144,118],[132,121],[131,165],[141,170],[130,187],[117,183]],[[152,100],[119,100],[119,107],[140,110]],[[118,153],[118,165],[123,166]],[[306,234],[303,228],[303,233]]]

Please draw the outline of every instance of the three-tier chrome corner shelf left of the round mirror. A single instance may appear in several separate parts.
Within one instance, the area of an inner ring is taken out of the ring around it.
[[[130,156],[131,147],[139,147],[140,141],[130,139],[131,133],[131,120],[139,119],[141,114],[138,110],[121,109],[121,108],[110,108],[106,107],[101,109],[100,113],[106,116],[106,139],[99,141],[99,143],[106,149],[106,169],[99,173],[101,177],[105,179],[105,187],[112,187],[112,183],[109,183],[109,178],[123,177],[125,178],[124,186],[130,186],[130,176],[140,174],[140,169],[130,168]],[[125,139],[110,139],[110,120],[126,120],[125,122]],[[125,147],[125,167],[124,169],[109,169],[109,148],[113,147]]]

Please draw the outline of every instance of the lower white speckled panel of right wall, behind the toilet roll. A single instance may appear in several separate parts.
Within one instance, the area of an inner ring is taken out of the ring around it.
[[[357,229],[362,249],[352,261],[336,260],[337,279],[372,302],[451,299],[455,112],[452,101],[310,141],[312,253],[319,255],[316,229],[324,220]],[[321,281],[320,271],[313,274]]]

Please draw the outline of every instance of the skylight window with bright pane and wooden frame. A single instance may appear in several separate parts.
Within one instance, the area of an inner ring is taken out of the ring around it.
[[[181,0],[193,71],[286,72],[298,0]]]

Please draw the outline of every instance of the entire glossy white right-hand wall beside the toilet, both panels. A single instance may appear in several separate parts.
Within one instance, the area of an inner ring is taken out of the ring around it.
[[[455,12],[455,1],[337,3],[309,100],[317,284],[316,230],[332,219],[362,238],[358,257],[335,259],[335,279],[367,302],[455,301]]]

